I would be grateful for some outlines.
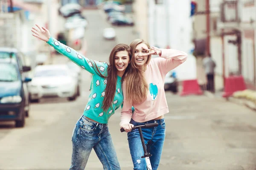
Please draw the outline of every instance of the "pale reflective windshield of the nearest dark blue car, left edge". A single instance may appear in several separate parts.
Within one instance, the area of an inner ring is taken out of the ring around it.
[[[18,80],[18,72],[14,65],[0,64],[0,82],[14,82]]]

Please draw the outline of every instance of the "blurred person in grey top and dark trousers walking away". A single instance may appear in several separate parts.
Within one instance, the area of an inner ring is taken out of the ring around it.
[[[214,69],[216,67],[215,62],[213,61],[211,54],[203,59],[203,66],[205,69],[205,74],[207,76],[207,91],[211,91],[215,93],[215,85],[214,85]]]

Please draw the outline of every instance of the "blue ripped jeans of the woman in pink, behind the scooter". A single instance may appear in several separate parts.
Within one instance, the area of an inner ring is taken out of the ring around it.
[[[150,120],[148,122],[135,122],[131,119],[131,124],[134,126],[145,125],[146,123],[158,123],[157,127],[142,128],[143,138],[146,144],[146,148],[150,154],[152,154],[150,163],[153,170],[157,170],[162,155],[163,143],[165,139],[165,121],[164,119]],[[128,143],[130,147],[131,159],[134,164],[134,170],[146,170],[147,165],[144,156],[144,151],[140,139],[140,133],[138,129],[128,132]]]

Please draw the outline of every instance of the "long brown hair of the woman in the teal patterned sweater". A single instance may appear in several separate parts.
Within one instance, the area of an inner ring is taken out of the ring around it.
[[[109,56],[109,65],[108,65],[108,70],[107,70],[107,75],[102,75],[99,71],[99,68],[96,67],[96,63],[93,61],[93,68],[95,70],[96,68],[96,73],[103,78],[107,79],[107,85],[105,88],[105,97],[103,99],[102,103],[102,109],[104,111],[108,111],[108,108],[111,106],[115,93],[116,93],[116,82],[117,82],[117,69],[115,66],[115,56],[116,53],[119,51],[127,51],[129,59],[131,61],[131,48],[126,45],[126,44],[117,44],[111,51],[110,56]],[[130,70],[131,66],[128,64],[127,68],[125,69],[125,73],[122,76],[122,82],[125,79],[125,75],[128,70]]]

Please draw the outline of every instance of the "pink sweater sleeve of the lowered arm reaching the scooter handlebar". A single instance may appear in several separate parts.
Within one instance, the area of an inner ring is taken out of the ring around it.
[[[127,124],[131,121],[131,116],[132,116],[132,103],[128,102],[128,100],[126,99],[126,85],[125,85],[125,81],[123,82],[122,85],[122,92],[123,92],[123,96],[124,96],[124,102],[122,104],[122,111],[121,111],[121,122],[120,122],[120,126]]]

